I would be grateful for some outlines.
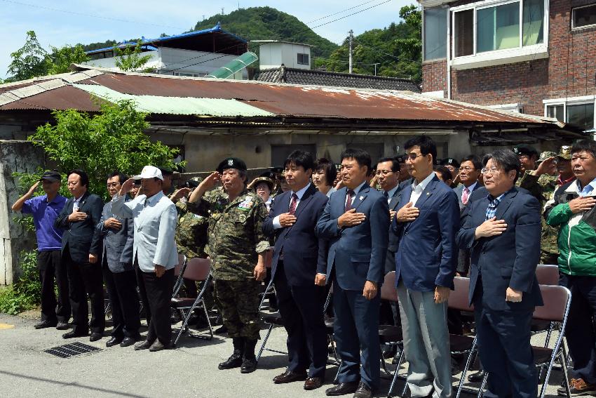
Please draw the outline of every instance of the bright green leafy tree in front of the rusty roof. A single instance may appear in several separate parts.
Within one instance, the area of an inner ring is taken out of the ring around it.
[[[114,170],[134,175],[143,166],[174,166],[178,150],[151,142],[144,130],[147,114],[132,101],[102,103],[102,112],[90,116],[75,110],[54,111],[54,125],[37,128],[29,140],[43,147],[58,170],[82,168],[89,175],[89,189],[107,197],[106,176]]]

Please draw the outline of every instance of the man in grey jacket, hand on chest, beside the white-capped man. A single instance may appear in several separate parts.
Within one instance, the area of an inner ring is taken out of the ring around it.
[[[118,194],[126,175],[117,171],[107,180],[110,197]],[[137,277],[133,268],[133,245],[135,226],[132,217],[118,217],[111,211],[112,201],[104,205],[102,218],[97,230],[104,240],[103,271],[109,302],[111,304],[111,338],[106,347],[119,344],[121,347],[133,345],[140,339],[141,326]]]

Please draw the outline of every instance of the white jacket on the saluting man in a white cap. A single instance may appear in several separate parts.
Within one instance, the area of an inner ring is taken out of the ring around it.
[[[137,258],[143,272],[154,272],[155,265],[170,270],[178,263],[176,206],[163,192],[152,197],[140,195],[131,201],[126,195],[114,195],[111,212],[121,217],[132,217],[135,223],[133,260]]]

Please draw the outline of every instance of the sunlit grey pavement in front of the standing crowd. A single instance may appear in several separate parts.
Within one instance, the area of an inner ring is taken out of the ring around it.
[[[337,371],[337,366],[329,366],[326,385],[305,391],[301,382],[273,384],[271,379],[287,364],[287,357],[276,352],[266,351],[254,373],[219,371],[217,364],[231,354],[231,340],[222,336],[210,341],[182,337],[175,350],[134,351],[133,347],[106,348],[107,337],[95,343],[88,338],[63,340],[63,331],[34,330],[35,323],[0,314],[0,397],[324,397]],[[273,329],[267,347],[285,350],[285,337],[283,329]],[[73,340],[101,350],[67,359],[44,352]],[[554,372],[548,388],[553,396],[560,374]],[[398,383],[397,391],[402,385]],[[386,396],[387,390],[384,378],[377,396]]]

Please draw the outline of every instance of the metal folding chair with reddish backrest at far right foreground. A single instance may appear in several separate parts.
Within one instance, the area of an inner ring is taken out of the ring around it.
[[[553,348],[548,347],[548,341],[545,343],[544,347],[536,345],[531,346],[532,351],[534,352],[534,364],[537,367],[540,367],[539,381],[541,379],[543,369],[546,367],[546,376],[544,377],[544,382],[540,391],[540,398],[544,398],[544,395],[546,394],[546,387],[548,385],[548,379],[550,378],[550,371],[553,369],[555,359],[559,359],[561,361],[565,393],[567,394],[567,398],[570,398],[571,392],[569,391],[569,376],[567,375],[567,352],[565,352],[562,342],[565,333],[565,325],[567,324],[567,317],[569,316],[569,306],[571,305],[571,291],[564,286],[548,285],[541,285],[540,291],[542,293],[544,305],[541,307],[536,307],[532,318],[550,321],[551,323],[560,322],[561,324],[559,336],[557,337],[557,341],[555,342],[555,346]],[[479,398],[484,392],[487,379],[488,373],[485,374],[485,378],[482,380],[482,385],[480,385],[480,391],[478,392]]]

